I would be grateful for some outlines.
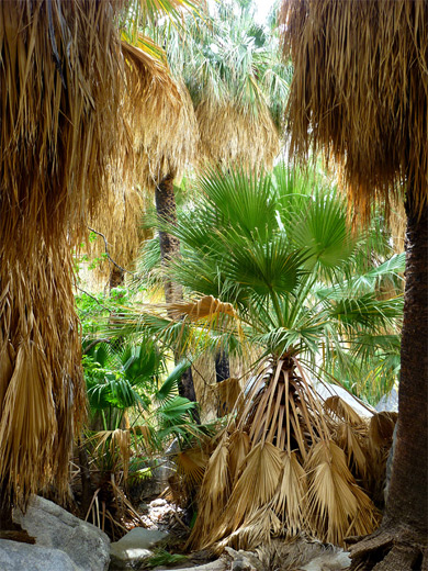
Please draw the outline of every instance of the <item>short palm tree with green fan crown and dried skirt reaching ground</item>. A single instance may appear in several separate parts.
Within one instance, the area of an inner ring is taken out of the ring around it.
[[[210,171],[199,191],[169,227],[182,246],[169,271],[203,296],[170,306],[177,323],[143,315],[143,331],[184,347],[194,339],[202,350],[257,347],[258,359],[207,464],[192,545],[254,548],[284,528],[341,542],[348,529],[373,529],[375,512],[354,481],[357,474],[365,481],[367,463],[365,452],[356,451],[356,426],[345,434],[336,426],[335,415],[343,413],[331,402],[323,407],[307,374],[331,377],[323,352],[330,361],[354,361],[362,336],[364,347],[385,348],[380,339],[394,337],[402,299],[379,299],[378,280],[399,272],[403,256],[356,276],[361,237],[351,235],[342,202],[283,168],[273,178]],[[315,479],[317,462],[324,468]],[[281,484],[283,474],[290,481]]]

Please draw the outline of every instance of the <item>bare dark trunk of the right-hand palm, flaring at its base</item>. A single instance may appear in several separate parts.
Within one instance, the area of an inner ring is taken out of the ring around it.
[[[406,288],[392,478],[382,526],[352,548],[352,569],[428,569],[428,208],[414,214],[412,198],[409,193],[406,204]],[[382,551],[386,557],[380,557]],[[365,567],[358,567],[362,561]]]

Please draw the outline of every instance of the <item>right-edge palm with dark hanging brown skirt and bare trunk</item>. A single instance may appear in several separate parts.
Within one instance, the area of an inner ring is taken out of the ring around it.
[[[326,150],[341,165],[354,212],[407,215],[399,413],[381,528],[352,548],[353,569],[428,564],[428,5],[424,0],[320,0],[283,4],[294,78],[292,148]],[[380,561],[378,563],[378,561]]]

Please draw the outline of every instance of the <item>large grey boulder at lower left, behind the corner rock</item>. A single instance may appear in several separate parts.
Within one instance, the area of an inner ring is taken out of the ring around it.
[[[33,496],[25,514],[20,510],[13,511],[13,520],[35,538],[36,545],[25,548],[25,550],[35,549],[34,558],[40,552],[40,548],[49,548],[52,552],[59,550],[66,553],[74,563],[74,571],[104,571],[108,569],[110,560],[108,536],[98,527],[75,517],[59,505],[44,497]],[[18,544],[18,546],[22,549],[23,544]],[[63,567],[56,569],[63,571]]]

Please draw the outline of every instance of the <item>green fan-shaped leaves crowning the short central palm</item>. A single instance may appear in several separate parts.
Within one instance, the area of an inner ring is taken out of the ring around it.
[[[299,356],[372,403],[386,392],[398,372],[404,271],[386,233],[352,232],[334,187],[284,166],[259,178],[207,170],[196,188],[177,226],[162,226],[181,243],[170,278],[233,303],[246,342],[266,356]],[[166,320],[159,338],[171,327]],[[221,335],[237,348],[236,335],[210,327],[213,346]]]

